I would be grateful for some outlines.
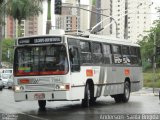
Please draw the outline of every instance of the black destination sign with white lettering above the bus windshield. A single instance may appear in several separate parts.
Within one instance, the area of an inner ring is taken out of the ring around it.
[[[58,42],[61,42],[61,37],[29,37],[29,38],[18,39],[19,45],[58,43]]]

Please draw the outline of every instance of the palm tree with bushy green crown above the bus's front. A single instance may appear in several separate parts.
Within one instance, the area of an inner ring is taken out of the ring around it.
[[[6,6],[6,13],[18,20],[18,36],[21,36],[20,25],[22,20],[42,13],[42,0],[10,0]]]

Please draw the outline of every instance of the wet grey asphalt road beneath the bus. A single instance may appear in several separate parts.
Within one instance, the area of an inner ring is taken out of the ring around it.
[[[144,114],[159,120],[159,97],[144,91],[131,94],[128,103],[117,104],[111,97],[101,97],[90,108],[81,107],[80,101],[47,102],[46,111],[40,111],[37,101],[14,102],[13,91],[4,89],[0,91],[0,120],[139,120]]]

